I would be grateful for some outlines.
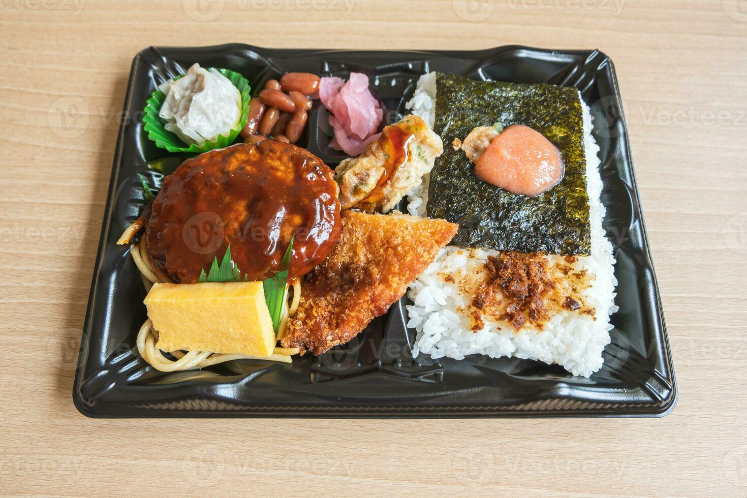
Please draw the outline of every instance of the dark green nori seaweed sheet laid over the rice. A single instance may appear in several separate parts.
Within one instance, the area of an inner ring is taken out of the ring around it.
[[[565,176],[536,197],[477,178],[474,164],[451,146],[475,126],[527,125],[562,152]],[[430,173],[428,216],[459,223],[451,243],[499,251],[586,255],[591,251],[583,113],[574,87],[474,81],[436,75],[436,122],[444,154]]]

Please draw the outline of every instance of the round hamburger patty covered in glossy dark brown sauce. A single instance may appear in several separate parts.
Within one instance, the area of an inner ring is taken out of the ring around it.
[[[152,261],[195,282],[231,246],[250,281],[275,275],[294,237],[289,278],[320,264],[340,237],[332,170],[275,140],[238,144],[185,161],[164,180],[146,222]]]

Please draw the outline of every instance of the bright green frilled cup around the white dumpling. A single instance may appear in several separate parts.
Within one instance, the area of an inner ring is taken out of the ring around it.
[[[222,149],[227,147],[236,140],[239,131],[247,125],[247,119],[249,117],[249,93],[252,88],[249,87],[249,81],[244,76],[238,74],[238,72],[229,71],[229,69],[215,68],[220,71],[220,74],[226,76],[231,80],[232,84],[238,88],[241,92],[241,119],[239,120],[238,127],[232,129],[227,135],[219,135],[214,141],[205,141],[202,146],[197,146],[196,143],[187,145],[182,141],[181,138],[175,134],[167,131],[164,128],[164,123],[158,118],[158,111],[161,111],[161,105],[166,100],[166,94],[161,90],[155,90],[147,100],[145,109],[143,110],[143,124],[145,125],[145,131],[148,133],[148,138],[155,143],[156,146],[161,149],[166,149],[169,152],[208,152],[212,149]],[[181,78],[181,76],[179,76]],[[177,78],[178,79],[178,78]]]

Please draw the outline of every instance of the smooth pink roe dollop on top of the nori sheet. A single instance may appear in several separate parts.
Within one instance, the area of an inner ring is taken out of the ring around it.
[[[560,183],[560,150],[539,131],[512,125],[495,137],[474,166],[482,180],[512,193],[535,197]]]

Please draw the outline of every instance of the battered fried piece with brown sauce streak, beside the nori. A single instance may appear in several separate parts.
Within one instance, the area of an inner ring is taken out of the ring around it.
[[[441,137],[418,116],[404,116],[389,125],[359,158],[342,161],[335,169],[343,209],[368,213],[391,211],[444,152]]]

